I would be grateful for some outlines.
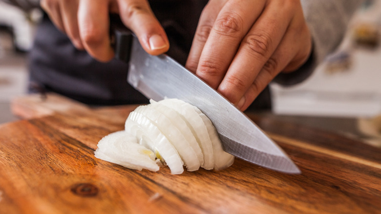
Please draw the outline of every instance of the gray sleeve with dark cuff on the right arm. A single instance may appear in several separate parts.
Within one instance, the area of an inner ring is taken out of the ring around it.
[[[308,61],[298,70],[279,74],[275,82],[295,85],[306,79],[324,58],[340,44],[347,25],[364,0],[300,0],[304,18],[310,29],[313,50]]]

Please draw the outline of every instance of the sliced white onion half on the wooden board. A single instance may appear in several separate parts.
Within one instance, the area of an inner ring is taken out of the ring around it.
[[[126,120],[125,130],[98,143],[95,157],[134,170],[158,171],[167,165],[172,174],[200,167],[223,170],[234,156],[222,149],[211,120],[197,107],[178,99],[139,106]]]

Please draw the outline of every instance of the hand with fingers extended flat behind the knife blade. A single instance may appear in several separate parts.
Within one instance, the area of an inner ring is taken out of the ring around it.
[[[245,110],[278,73],[304,64],[311,46],[298,0],[210,0],[186,67]]]

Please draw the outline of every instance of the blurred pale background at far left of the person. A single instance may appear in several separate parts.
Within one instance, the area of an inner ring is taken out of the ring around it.
[[[26,55],[32,46],[38,16],[40,11],[25,14],[0,1],[0,124],[17,119],[9,104],[13,97],[26,92]]]

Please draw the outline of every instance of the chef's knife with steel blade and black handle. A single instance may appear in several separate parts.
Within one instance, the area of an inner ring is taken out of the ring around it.
[[[127,82],[155,101],[177,98],[198,107],[216,128],[223,149],[259,166],[300,173],[287,154],[242,111],[169,56],[149,55],[123,23],[111,18],[115,57],[129,64]]]

